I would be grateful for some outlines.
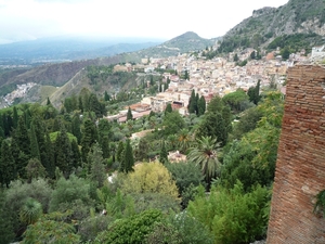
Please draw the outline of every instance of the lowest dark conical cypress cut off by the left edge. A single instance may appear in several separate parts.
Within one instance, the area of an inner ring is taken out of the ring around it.
[[[16,179],[17,171],[15,159],[11,153],[11,147],[6,140],[1,144],[1,159],[0,159],[0,180],[2,185],[9,187],[10,181]]]

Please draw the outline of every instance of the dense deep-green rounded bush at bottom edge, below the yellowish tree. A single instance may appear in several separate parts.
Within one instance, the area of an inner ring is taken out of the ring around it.
[[[101,244],[142,244],[145,236],[154,230],[154,223],[162,220],[161,211],[152,209],[130,218],[115,221],[107,231],[102,232],[94,243]]]

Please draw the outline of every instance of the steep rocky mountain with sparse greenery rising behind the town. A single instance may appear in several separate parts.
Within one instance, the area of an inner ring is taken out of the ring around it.
[[[311,49],[312,46],[324,43],[324,37],[325,1],[290,0],[277,9],[265,7],[255,10],[250,17],[226,33],[219,51],[268,48],[276,38],[281,39],[283,47],[302,41],[300,47],[308,44],[306,48]],[[288,38],[290,40],[285,43]],[[292,47],[295,49],[296,46]]]

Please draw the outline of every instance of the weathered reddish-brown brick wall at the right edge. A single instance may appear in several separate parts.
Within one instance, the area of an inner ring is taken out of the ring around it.
[[[325,68],[298,65],[288,69],[266,243],[325,243],[325,220],[313,214],[324,189]]]

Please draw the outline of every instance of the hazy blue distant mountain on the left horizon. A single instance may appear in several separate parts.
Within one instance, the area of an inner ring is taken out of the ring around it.
[[[154,41],[153,41],[154,40]],[[161,43],[157,39],[55,37],[0,44],[0,65],[89,60],[133,52]]]

